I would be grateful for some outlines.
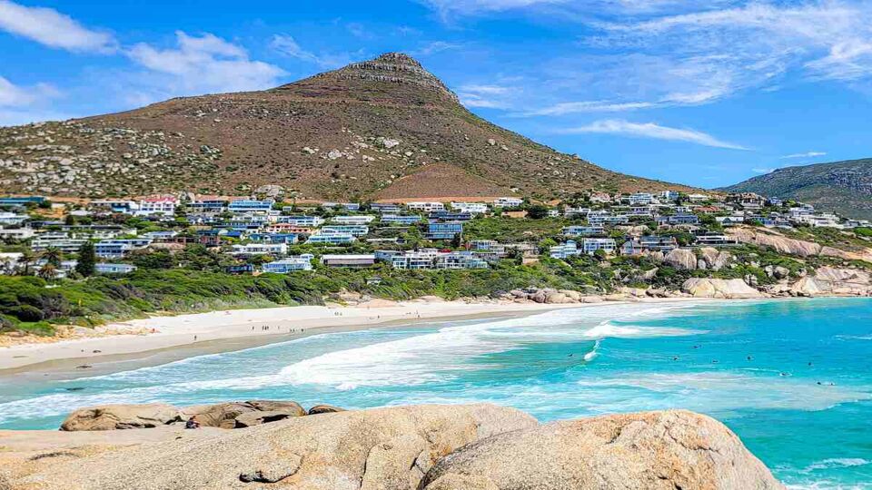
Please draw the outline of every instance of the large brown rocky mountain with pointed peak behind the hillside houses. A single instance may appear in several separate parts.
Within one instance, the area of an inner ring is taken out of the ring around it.
[[[265,184],[300,199],[687,189],[602,169],[484,121],[399,53],[262,92],[0,128],[0,191],[243,194]]]

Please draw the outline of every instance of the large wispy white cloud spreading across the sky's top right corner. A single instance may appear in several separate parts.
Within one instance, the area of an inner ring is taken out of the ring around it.
[[[733,4],[642,22],[602,24],[607,34],[598,42],[669,52],[677,60],[707,56],[720,70],[735,75],[734,83],[728,84],[732,91],[792,69],[814,79],[856,81],[872,76],[868,0]]]

